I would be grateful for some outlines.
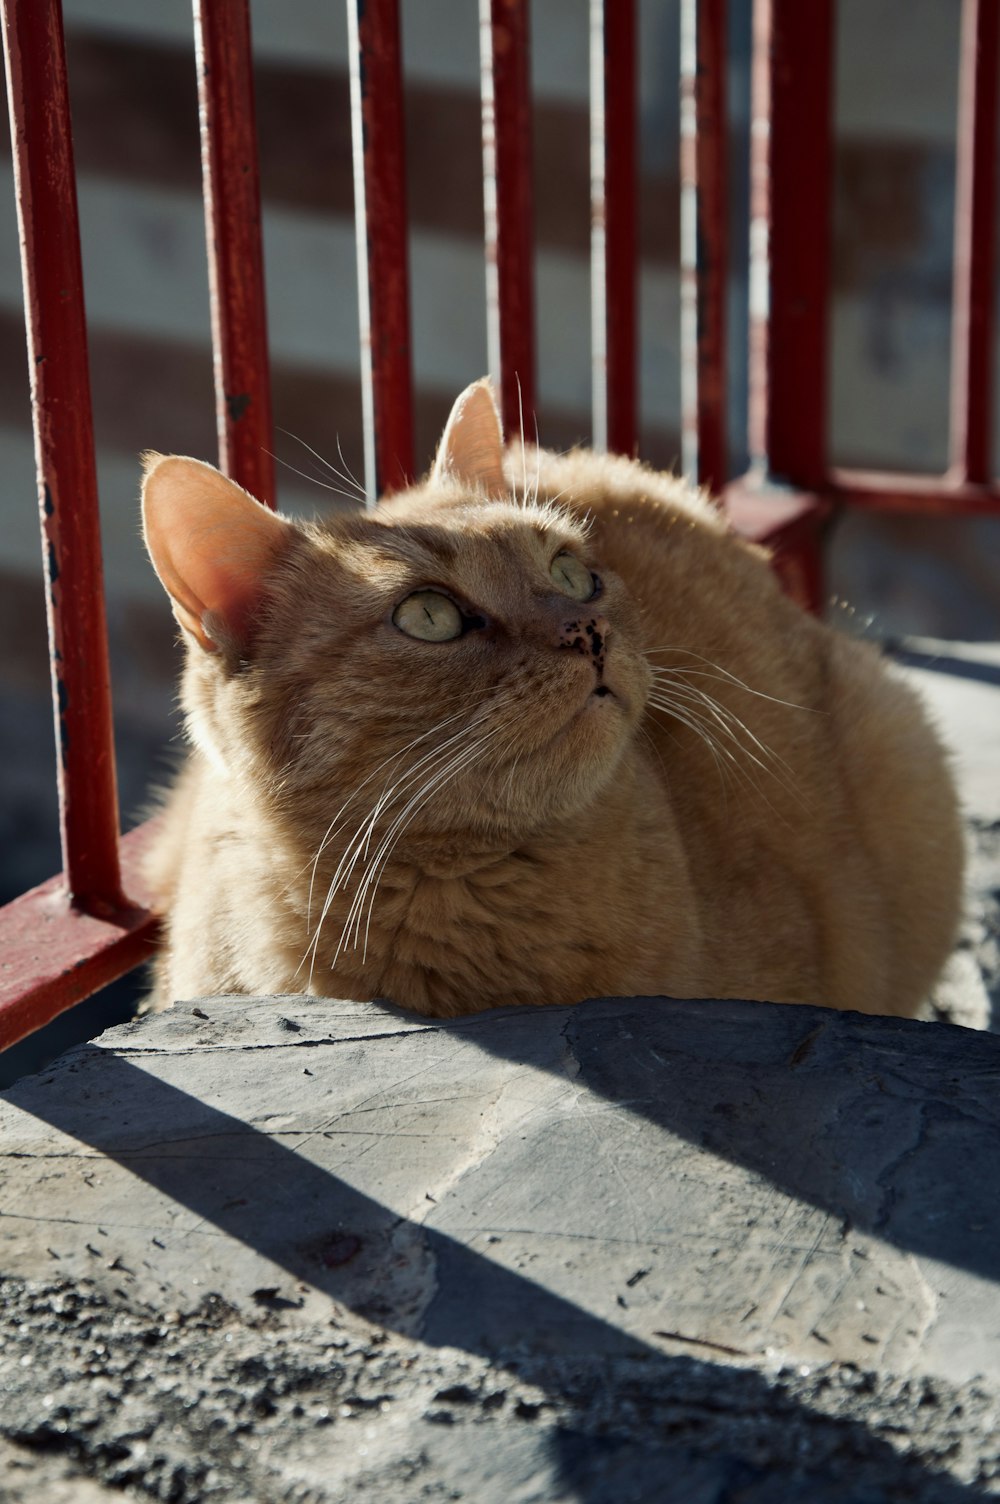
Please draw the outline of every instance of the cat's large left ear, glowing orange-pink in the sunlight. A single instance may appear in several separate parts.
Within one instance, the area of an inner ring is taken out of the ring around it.
[[[174,617],[206,653],[244,647],[290,525],[202,460],[143,468],[143,534]]]

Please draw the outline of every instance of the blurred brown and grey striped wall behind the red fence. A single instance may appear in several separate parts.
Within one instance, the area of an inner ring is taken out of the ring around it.
[[[806,0],[803,0],[806,3]],[[958,0],[839,0],[832,459],[943,469]],[[402,0],[418,460],[486,370],[477,0]],[[731,447],[744,459],[750,0],[731,0]],[[361,469],[344,6],[251,0],[280,504]],[[174,755],[171,618],[137,523],[143,448],[215,457],[189,0],[65,0],[122,811]],[[641,0],[644,457],[680,454],[678,3]],[[589,436],[586,0],[535,0],[538,432]],[[809,68],[809,59],[802,59]],[[0,146],[0,901],[59,866],[18,236]],[[305,472],[296,474],[296,471]],[[314,477],[311,480],[310,477]],[[329,477],[326,477],[329,480]],[[850,516],[830,594],[884,636],[1000,638],[1000,529]],[[171,750],[173,749],[173,750]]]

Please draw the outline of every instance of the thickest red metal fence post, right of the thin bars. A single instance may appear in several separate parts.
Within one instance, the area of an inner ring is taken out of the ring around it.
[[[826,471],[833,0],[758,0],[750,137],[750,453]]]

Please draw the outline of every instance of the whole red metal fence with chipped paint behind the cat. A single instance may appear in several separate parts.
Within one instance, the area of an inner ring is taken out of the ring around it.
[[[638,435],[636,5],[591,6],[594,438]],[[952,465],[926,478],[827,463],[835,0],[755,0],[747,475],[726,484],[726,0],[681,0],[686,469],[786,587],[821,600],[823,522],[842,504],[1000,511],[991,474],[1000,8],[964,0]],[[349,0],[370,496],[414,474],[398,0]],[[535,408],[528,0],[480,0],[487,328],[508,432]],[[3,0],[29,370],[59,741],[63,872],[0,910],[0,1047],[144,960],[156,920],[119,838],[72,138],[60,0]],[[203,191],[220,463],[274,499],[247,0],[197,0]],[[808,59],[808,66],[802,60]]]

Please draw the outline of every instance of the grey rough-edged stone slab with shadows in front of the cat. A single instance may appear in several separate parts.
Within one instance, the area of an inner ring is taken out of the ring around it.
[[[185,1501],[992,1495],[998,1081],[761,1003],[182,1005],[0,1104],[0,1433]]]

